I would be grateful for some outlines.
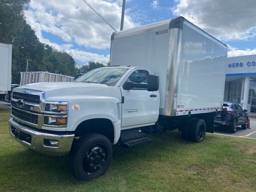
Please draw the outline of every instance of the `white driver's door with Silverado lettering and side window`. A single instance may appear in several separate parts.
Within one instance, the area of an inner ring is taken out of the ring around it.
[[[121,129],[128,129],[155,124],[159,115],[159,92],[148,91],[149,71],[134,69],[120,85],[123,97]],[[144,84],[144,88],[131,88],[125,90],[124,82]]]

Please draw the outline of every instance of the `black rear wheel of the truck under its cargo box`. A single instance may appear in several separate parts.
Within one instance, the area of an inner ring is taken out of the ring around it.
[[[200,143],[204,141],[206,134],[206,124],[203,119],[195,119],[190,128],[190,139],[193,142]]]

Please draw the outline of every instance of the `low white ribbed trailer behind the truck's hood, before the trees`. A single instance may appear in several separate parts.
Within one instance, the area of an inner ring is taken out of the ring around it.
[[[44,71],[29,71],[20,73],[20,85],[26,85],[31,83],[40,83],[40,82],[73,82],[74,77],[49,73]]]

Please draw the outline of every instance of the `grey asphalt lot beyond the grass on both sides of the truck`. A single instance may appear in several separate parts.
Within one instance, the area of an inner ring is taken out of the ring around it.
[[[10,103],[0,101],[0,106],[10,108]],[[241,126],[238,126],[236,133],[230,133],[228,128],[224,126],[214,125],[214,134],[236,136],[236,137],[247,137],[247,138],[256,138],[256,117],[250,116],[250,129],[243,130]]]

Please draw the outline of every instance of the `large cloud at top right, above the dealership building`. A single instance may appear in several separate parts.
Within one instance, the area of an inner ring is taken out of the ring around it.
[[[256,37],[255,0],[175,0],[172,12],[221,40]]]

